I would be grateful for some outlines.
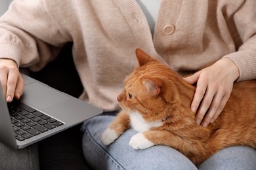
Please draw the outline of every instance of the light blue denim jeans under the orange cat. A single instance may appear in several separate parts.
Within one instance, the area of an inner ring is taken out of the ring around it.
[[[224,148],[199,167],[168,146],[134,150],[129,146],[131,137],[137,133],[133,129],[105,146],[100,138],[114,118],[114,112],[103,113],[86,120],[81,127],[83,154],[93,169],[256,169],[256,150],[246,146]]]

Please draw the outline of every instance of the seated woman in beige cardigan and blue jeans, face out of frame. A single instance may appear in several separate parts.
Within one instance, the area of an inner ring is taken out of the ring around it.
[[[74,62],[85,88],[80,98],[105,110],[82,127],[83,151],[91,166],[195,169],[172,148],[131,150],[121,141],[127,141],[133,131],[108,148],[100,143],[100,135],[119,109],[116,96],[123,78],[136,65],[138,47],[182,76],[194,73],[186,80],[197,83],[191,104],[197,112],[195,121],[204,127],[214,122],[233,83],[256,78],[255,7],[253,0],[14,1],[0,19],[0,80],[7,84],[3,91],[8,102],[19,98],[23,80],[17,66],[39,70],[72,41]],[[226,155],[232,156],[223,163]],[[200,167],[244,167],[243,162],[252,156],[256,157],[253,148],[226,148]],[[256,167],[255,160],[249,160],[247,168]]]

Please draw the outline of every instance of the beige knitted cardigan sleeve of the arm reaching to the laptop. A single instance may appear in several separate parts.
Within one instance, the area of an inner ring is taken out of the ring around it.
[[[47,12],[45,1],[13,1],[0,18],[0,58],[38,70],[67,42]]]

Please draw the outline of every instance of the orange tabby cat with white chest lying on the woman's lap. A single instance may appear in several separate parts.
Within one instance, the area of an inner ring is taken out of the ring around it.
[[[113,143],[133,127],[139,133],[131,137],[131,147],[171,146],[195,165],[227,146],[256,148],[255,80],[234,83],[223,112],[202,127],[190,110],[196,87],[144,51],[137,49],[136,56],[139,67],[125,78],[117,96],[122,110],[102,134],[103,144]]]

